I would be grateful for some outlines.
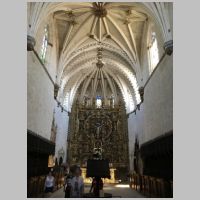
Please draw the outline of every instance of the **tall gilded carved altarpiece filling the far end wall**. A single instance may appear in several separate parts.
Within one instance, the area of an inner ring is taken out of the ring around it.
[[[125,108],[117,105],[95,108],[76,103],[70,118],[68,163],[85,167],[93,149],[101,148],[102,157],[108,158],[116,169],[116,179],[125,177],[129,166]]]

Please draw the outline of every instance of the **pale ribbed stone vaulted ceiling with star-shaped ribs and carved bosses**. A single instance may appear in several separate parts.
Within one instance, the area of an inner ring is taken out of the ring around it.
[[[65,106],[68,110],[79,87],[83,90],[83,98],[88,85],[97,82],[97,74],[102,80],[102,90],[105,90],[107,84],[113,95],[116,95],[113,86],[113,81],[115,82],[121,91],[127,112],[134,110],[140,103],[138,82],[142,78],[141,47],[145,39],[145,26],[150,18],[158,17],[158,13],[153,14],[153,5],[131,2],[66,2],[37,5],[40,15],[38,19],[30,19],[32,22],[35,20],[35,29],[39,26],[41,18],[52,15],[55,20],[59,57],[59,96],[63,103],[67,102]],[[36,3],[33,3],[32,7],[36,7]],[[155,21],[159,24],[159,18]],[[165,31],[165,39],[164,33]],[[96,65],[98,48],[102,49],[101,69]],[[94,89],[97,85],[92,87]],[[105,91],[103,93],[105,94]]]

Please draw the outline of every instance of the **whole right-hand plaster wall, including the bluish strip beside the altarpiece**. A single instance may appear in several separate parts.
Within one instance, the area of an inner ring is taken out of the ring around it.
[[[129,159],[133,170],[135,137],[139,144],[173,130],[173,57],[165,56],[144,91],[140,110],[129,115]]]

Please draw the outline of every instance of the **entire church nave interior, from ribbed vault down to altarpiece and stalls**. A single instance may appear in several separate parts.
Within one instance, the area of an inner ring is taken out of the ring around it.
[[[27,3],[27,197],[91,178],[173,197],[172,2]]]

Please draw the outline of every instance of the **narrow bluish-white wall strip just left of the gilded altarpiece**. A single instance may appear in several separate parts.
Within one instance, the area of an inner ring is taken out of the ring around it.
[[[63,162],[66,162],[69,116],[67,112],[65,111],[61,112],[61,108],[57,107],[57,104],[55,105],[54,116],[55,116],[55,123],[57,125],[55,156],[59,161],[58,151],[60,149],[63,149],[64,150]]]

